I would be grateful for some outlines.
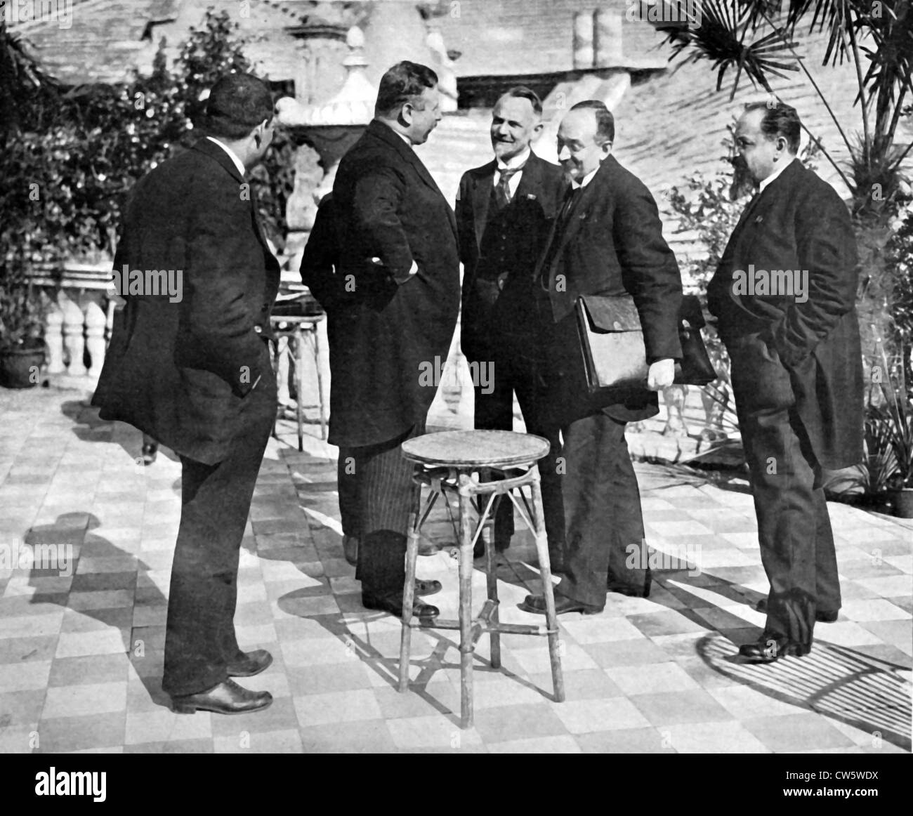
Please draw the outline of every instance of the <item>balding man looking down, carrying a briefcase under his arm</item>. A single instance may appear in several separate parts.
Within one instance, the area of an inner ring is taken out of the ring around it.
[[[538,269],[540,314],[550,330],[546,422],[561,427],[566,469],[558,612],[601,612],[606,589],[643,597],[650,591],[644,519],[624,425],[658,413],[655,392],[672,384],[681,357],[676,259],[663,240],[653,196],[615,161],[613,141],[614,119],[602,102],[580,102],[561,121],[558,158],[572,188]],[[582,295],[625,294],[634,298],[644,330],[645,388],[591,396],[582,377],[575,304]],[[541,595],[528,596],[520,606],[545,612]]]

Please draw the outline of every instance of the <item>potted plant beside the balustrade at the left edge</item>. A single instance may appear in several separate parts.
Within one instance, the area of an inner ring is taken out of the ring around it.
[[[44,308],[30,285],[0,283],[0,385],[31,388],[45,361]]]

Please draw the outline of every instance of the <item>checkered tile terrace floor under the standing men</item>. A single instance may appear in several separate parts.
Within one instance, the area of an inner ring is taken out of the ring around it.
[[[100,422],[85,396],[0,392],[0,751],[909,750],[908,523],[832,504],[840,620],[818,625],[802,660],[739,664],[767,591],[744,483],[638,465],[648,543],[668,568],[650,599],[613,594],[601,615],[561,619],[561,704],[544,640],[505,636],[495,671],[483,637],[463,731],[456,633],[415,633],[413,685],[399,694],[399,622],[362,609],[342,559],[333,449],[309,436],[299,454],[290,433],[257,482],[236,616],[242,646],[275,657],[243,683],[275,701],[175,715],[160,683],[180,465],[163,452],[137,466],[139,434]],[[39,551],[58,569],[37,569]],[[501,619],[531,622],[516,607],[539,580],[530,536],[508,556]],[[455,617],[456,560],[444,551],[419,570],[444,583],[435,603]],[[481,572],[474,587],[481,596]]]

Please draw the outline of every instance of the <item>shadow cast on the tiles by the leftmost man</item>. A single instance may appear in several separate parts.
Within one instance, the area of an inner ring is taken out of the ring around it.
[[[23,540],[32,552],[28,582],[36,589],[30,602],[56,603],[118,629],[124,641],[123,652],[147,693],[154,702],[168,706],[169,698],[162,691],[164,626],[133,623],[135,609],[167,608],[167,599],[154,585],[137,587],[139,574],[149,570],[149,566],[92,532],[99,527],[99,518],[75,511],[58,516],[53,524],[37,525],[26,531]],[[79,570],[84,560],[114,557],[135,560],[135,567],[119,571]],[[58,589],[52,581],[47,581],[69,576],[72,581],[68,590]]]

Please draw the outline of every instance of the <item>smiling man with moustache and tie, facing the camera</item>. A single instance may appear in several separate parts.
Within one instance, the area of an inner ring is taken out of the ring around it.
[[[487,376],[477,377],[475,426],[513,429],[517,392],[530,434],[549,439],[539,463],[552,570],[561,570],[564,538],[561,475],[555,461],[557,429],[541,426],[536,407],[540,330],[532,273],[561,205],[567,182],[561,168],[530,150],[542,130],[542,103],[534,91],[509,89],[492,110],[493,161],[463,174],[456,199],[456,226],[463,262],[460,343],[467,360]],[[501,501],[495,546],[507,549],[513,535],[513,505]],[[484,544],[477,547],[477,555]]]

